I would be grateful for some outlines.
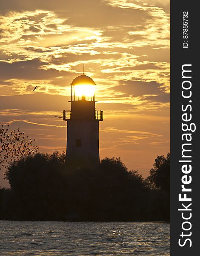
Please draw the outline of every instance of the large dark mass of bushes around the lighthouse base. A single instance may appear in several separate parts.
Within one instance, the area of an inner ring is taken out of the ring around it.
[[[35,154],[10,164],[0,218],[12,220],[169,220],[168,192],[149,188],[120,158],[78,169],[65,154]]]

